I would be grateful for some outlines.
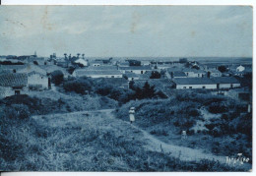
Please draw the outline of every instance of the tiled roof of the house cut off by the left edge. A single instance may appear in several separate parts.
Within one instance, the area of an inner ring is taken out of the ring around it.
[[[2,87],[25,87],[28,84],[27,74],[2,74],[0,86]]]

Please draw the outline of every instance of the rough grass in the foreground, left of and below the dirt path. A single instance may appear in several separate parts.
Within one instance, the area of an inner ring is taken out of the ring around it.
[[[96,114],[85,114],[81,120],[69,117],[58,125],[64,121],[61,116],[36,121],[1,112],[0,169],[4,171],[238,170],[216,161],[180,161],[168,153],[147,150],[140,138],[133,138],[138,132],[106,127],[106,118]]]

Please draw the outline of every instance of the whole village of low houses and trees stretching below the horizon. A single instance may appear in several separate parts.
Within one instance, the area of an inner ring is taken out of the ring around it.
[[[164,93],[170,88],[206,88],[217,93],[226,94],[234,89],[237,94],[248,93],[244,77],[252,75],[252,66],[242,63],[199,63],[187,58],[176,61],[135,59],[102,59],[89,60],[85,54],[76,56],[37,57],[36,52],[30,56],[0,57],[0,97],[14,94],[28,94],[34,90],[54,88],[52,73],[59,71],[64,79],[88,77],[104,78],[121,82],[120,88],[129,88],[131,82],[163,83]]]

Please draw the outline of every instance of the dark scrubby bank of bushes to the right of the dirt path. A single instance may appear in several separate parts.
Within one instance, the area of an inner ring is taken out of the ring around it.
[[[116,111],[129,120],[129,108],[136,109],[136,125],[164,142],[201,148],[214,154],[242,153],[252,158],[252,114],[239,102],[205,90],[172,92],[168,99],[130,101]],[[211,118],[207,119],[207,114]],[[181,141],[181,132],[188,139]]]

